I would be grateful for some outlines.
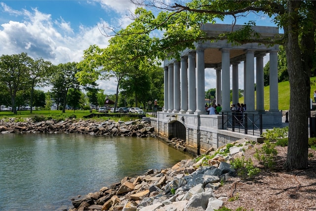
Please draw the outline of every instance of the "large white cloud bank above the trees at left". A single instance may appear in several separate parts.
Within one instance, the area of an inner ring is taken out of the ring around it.
[[[26,52],[33,58],[43,58],[57,65],[79,62],[83,51],[91,44],[100,47],[108,45],[109,39],[103,36],[97,27],[107,24],[102,19],[92,27],[79,26],[79,33],[74,34],[71,23],[64,21],[62,17],[52,20],[50,14],[44,14],[38,9],[17,11],[4,3],[0,5],[4,11],[21,15],[23,19],[1,24],[0,55]],[[102,86],[103,84],[106,85]],[[116,82],[113,80],[101,81],[100,86],[109,94],[116,91]]]

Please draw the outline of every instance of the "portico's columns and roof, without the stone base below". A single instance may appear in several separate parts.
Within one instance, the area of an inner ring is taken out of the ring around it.
[[[234,26],[237,30],[241,26]],[[277,27],[255,26],[263,38],[274,38],[278,34]],[[205,24],[203,30],[209,34],[220,35],[232,30],[232,25]],[[266,47],[263,44],[248,43],[232,45],[227,41],[198,42],[196,49],[182,52],[181,60],[165,60],[165,97],[163,112],[204,114],[205,104],[205,68],[216,71],[216,104],[221,104],[223,111],[230,110],[230,90],[233,90],[233,104],[238,103],[238,81],[244,81],[244,99],[248,112],[264,111],[263,92],[263,57],[270,54],[270,95],[269,111],[278,111],[277,95],[277,51],[278,46]],[[254,60],[254,58],[256,58]],[[255,62],[256,61],[256,62]],[[244,79],[238,76],[238,65],[243,62]],[[232,83],[230,67],[232,65]],[[256,81],[255,72],[256,69]],[[256,105],[255,105],[256,84]],[[194,100],[195,99],[195,100]]]

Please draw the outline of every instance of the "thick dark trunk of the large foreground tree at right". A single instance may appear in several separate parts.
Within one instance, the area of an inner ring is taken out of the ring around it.
[[[285,51],[290,81],[289,135],[285,169],[308,168],[308,119],[310,116],[310,71],[299,46],[297,1],[289,1],[288,25],[284,27]],[[294,11],[293,11],[294,10]],[[292,11],[292,12],[291,12]]]

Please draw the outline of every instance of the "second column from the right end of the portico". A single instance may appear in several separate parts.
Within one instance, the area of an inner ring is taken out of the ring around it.
[[[263,80],[263,56],[266,54],[256,55],[256,93],[257,108],[256,111],[265,110],[264,100],[264,80]],[[270,92],[271,93],[271,92]]]

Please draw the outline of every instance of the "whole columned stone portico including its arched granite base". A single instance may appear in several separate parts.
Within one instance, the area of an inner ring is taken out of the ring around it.
[[[232,27],[227,24],[205,24],[201,29],[212,37],[216,37],[232,30],[238,30],[242,26]],[[277,27],[254,26],[253,29],[260,33],[262,39],[274,39],[278,34]],[[176,129],[170,124],[177,121],[186,129],[186,135],[182,138],[193,147],[201,148],[200,139],[203,139],[203,135],[200,131],[202,130],[212,133],[212,143],[209,143],[211,146],[220,145],[219,138],[214,135],[218,136],[221,133],[219,122],[221,122],[222,116],[207,115],[204,106],[206,68],[207,71],[216,71],[216,104],[221,104],[223,114],[231,112],[231,87],[233,104],[238,103],[238,82],[242,80],[244,83],[243,103],[246,104],[246,112],[264,114],[263,121],[266,125],[281,124],[282,116],[278,110],[277,94],[278,45],[270,47],[258,43],[232,45],[226,40],[197,42],[195,45],[195,49],[186,49],[181,52],[180,61],[176,59],[164,61],[164,107],[162,112],[158,112],[157,120],[157,131],[161,135],[168,137],[170,134],[176,133]],[[269,96],[270,108],[265,111],[263,57],[268,53],[270,56],[270,93],[273,94]],[[243,64],[244,67],[243,78],[239,77],[240,64]],[[168,126],[164,126],[164,124]],[[190,130],[192,130],[192,134],[190,134]]]

